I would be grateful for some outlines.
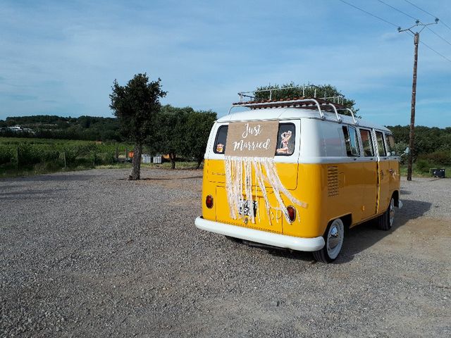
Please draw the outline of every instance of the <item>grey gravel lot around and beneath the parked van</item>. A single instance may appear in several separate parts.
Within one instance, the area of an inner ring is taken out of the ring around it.
[[[450,337],[451,180],[333,264],[197,230],[202,172],[0,180],[1,337]]]

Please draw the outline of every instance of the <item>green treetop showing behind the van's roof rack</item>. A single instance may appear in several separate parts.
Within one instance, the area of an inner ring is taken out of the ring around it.
[[[354,115],[357,113],[357,111],[359,111],[359,109],[354,107],[355,105],[354,100],[347,99],[335,86],[331,84],[321,84],[321,85],[304,84],[303,86],[304,91],[302,90],[302,88],[290,88],[290,87],[300,87],[299,84],[295,84],[294,82],[282,84],[281,86],[279,86],[278,84],[271,84],[268,86],[258,87],[255,90],[259,91],[264,89],[280,89],[272,92],[271,99],[295,99],[300,97],[317,97],[321,99],[332,96],[343,96],[342,106],[352,109],[352,111],[354,111]],[[269,91],[256,92],[255,99],[268,100]],[[343,115],[350,115],[348,111],[342,111],[340,113],[342,113]]]

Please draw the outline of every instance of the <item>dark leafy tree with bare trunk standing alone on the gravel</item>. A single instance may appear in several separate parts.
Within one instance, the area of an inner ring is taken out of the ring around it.
[[[121,132],[135,144],[132,172],[128,180],[140,180],[142,145],[152,136],[159,99],[166,96],[161,79],[150,81],[146,73],[137,74],[125,86],[113,82],[110,108],[119,120]]]

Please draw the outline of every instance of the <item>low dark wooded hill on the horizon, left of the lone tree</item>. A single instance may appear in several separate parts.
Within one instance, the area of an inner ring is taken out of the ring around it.
[[[6,127],[20,126],[32,132]],[[80,116],[65,118],[56,115],[17,116],[0,120],[0,136],[39,137],[47,139],[85,139],[90,141],[122,141],[116,118]]]

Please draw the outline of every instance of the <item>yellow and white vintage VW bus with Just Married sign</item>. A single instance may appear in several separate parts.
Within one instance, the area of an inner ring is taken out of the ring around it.
[[[402,203],[390,130],[352,111],[342,115],[345,108],[326,99],[233,107],[248,110],[229,112],[211,130],[199,229],[311,251],[329,263],[340,253],[345,228],[372,218],[381,230],[392,227]]]

